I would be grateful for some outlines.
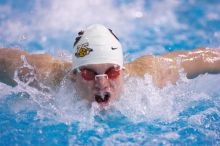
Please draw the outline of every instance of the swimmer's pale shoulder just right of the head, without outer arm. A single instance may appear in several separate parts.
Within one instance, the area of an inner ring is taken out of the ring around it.
[[[168,82],[175,83],[178,78],[176,61],[168,56],[145,55],[125,65],[126,73],[131,76],[150,75],[157,87],[164,87]]]

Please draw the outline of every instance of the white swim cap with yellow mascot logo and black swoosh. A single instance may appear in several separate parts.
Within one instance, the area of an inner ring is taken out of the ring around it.
[[[72,59],[73,69],[103,63],[117,64],[122,68],[122,46],[110,29],[100,24],[91,25],[79,33]]]

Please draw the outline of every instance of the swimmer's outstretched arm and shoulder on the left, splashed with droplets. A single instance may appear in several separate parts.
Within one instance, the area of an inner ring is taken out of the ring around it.
[[[66,72],[70,69],[71,63],[55,59],[47,54],[30,54],[19,49],[0,49],[0,81],[9,85],[16,85],[13,80],[14,73],[19,67],[22,67],[23,62],[21,56],[25,56],[27,62],[33,66],[37,76],[37,81],[34,80],[30,86],[39,88],[39,82],[46,86],[57,86]],[[21,74],[19,79],[29,74],[27,68],[20,68]]]

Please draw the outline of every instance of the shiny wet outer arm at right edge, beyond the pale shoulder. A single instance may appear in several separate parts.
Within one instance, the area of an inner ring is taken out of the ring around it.
[[[176,51],[162,56],[176,60],[178,68],[183,68],[189,79],[204,73],[220,73],[220,49],[199,48],[192,51]]]

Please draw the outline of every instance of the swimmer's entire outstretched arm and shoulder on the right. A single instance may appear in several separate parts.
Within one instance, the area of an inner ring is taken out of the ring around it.
[[[151,75],[154,84],[162,88],[168,83],[175,84],[180,70],[189,79],[204,73],[220,73],[220,52],[219,49],[195,49],[161,56],[145,55],[125,64],[125,68],[132,76]]]

